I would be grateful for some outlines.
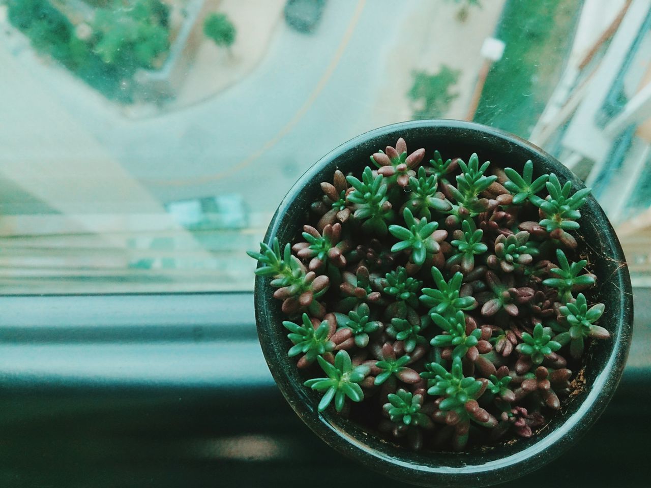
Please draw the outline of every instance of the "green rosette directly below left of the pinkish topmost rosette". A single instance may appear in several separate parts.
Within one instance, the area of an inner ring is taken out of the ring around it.
[[[374,175],[367,166],[362,173],[362,180],[355,176],[346,176],[346,181],[353,187],[346,201],[353,204],[353,217],[364,221],[362,229],[379,236],[387,234],[387,222],[393,221],[394,211],[387,197],[387,183],[381,174]]]

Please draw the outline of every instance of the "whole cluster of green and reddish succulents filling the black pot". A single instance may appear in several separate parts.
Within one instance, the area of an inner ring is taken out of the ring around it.
[[[576,388],[587,343],[609,337],[570,234],[588,191],[532,161],[424,155],[399,139],[361,179],[337,170],[294,243],[249,252],[256,275],[320,411],[334,400],[414,449],[530,437]]]

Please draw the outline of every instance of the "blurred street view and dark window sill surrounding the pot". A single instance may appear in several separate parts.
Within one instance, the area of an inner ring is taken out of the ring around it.
[[[284,403],[245,250],[329,150],[426,118],[529,139],[602,203],[629,365],[525,480],[648,486],[651,0],[0,0],[0,483],[387,483]]]

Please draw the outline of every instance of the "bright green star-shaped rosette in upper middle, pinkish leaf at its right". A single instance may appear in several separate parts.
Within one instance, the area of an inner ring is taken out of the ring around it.
[[[391,252],[408,251],[411,262],[421,266],[428,257],[431,258],[432,255],[441,251],[441,247],[434,237],[439,224],[428,222],[425,217],[417,221],[408,208],[404,210],[404,220],[407,228],[400,225],[389,226],[389,232],[396,239],[400,239],[391,247]],[[447,237],[447,232],[442,231],[442,238],[445,239],[445,237]]]

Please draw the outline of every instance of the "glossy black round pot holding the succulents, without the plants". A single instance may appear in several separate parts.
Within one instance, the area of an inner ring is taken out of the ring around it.
[[[294,240],[302,224],[307,222],[309,205],[322,195],[320,182],[331,181],[337,168],[344,173],[361,174],[368,165],[369,155],[395,143],[398,137],[404,137],[412,149],[425,148],[428,156],[435,149],[445,156],[464,159],[477,152],[480,161],[493,161],[516,170],[521,170],[525,161],[531,159],[534,176],[555,172],[561,183],[572,180],[574,190],[584,187],[559,161],[509,133],[455,120],[403,122],[355,137],[322,157],[283,199],[271,220],[265,242],[271,243],[274,237],[281,244]],[[255,282],[258,336],[275,381],[294,411],[319,437],[342,454],[398,480],[432,487],[483,486],[517,478],[548,463],[562,455],[602,414],[622,375],[631,342],[631,282],[619,241],[592,197],[581,208],[579,223],[590,269],[597,276],[596,299],[605,304],[600,323],[612,336],[609,340],[595,341],[598,344],[592,344],[587,351],[585,388],[530,439],[460,454],[414,453],[337,416],[333,409],[318,413],[318,394],[303,386],[296,360],[287,356],[290,342],[281,325],[284,316],[280,301],[271,296],[270,278],[258,277]]]

